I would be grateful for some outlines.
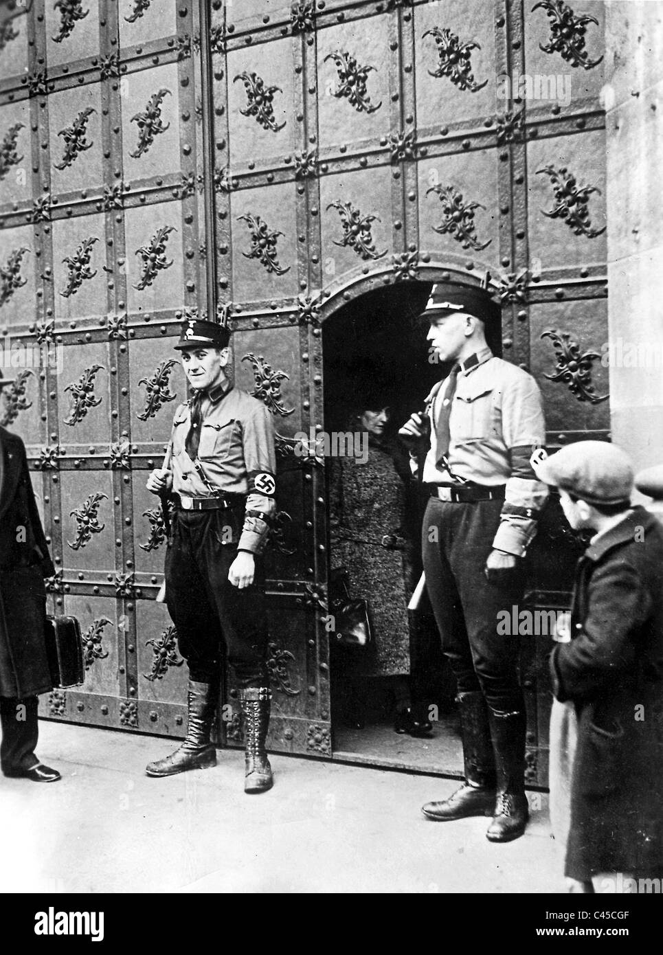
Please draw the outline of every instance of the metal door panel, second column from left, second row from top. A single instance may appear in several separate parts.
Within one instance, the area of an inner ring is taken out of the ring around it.
[[[89,112],[91,110],[93,112]],[[72,193],[103,185],[101,118],[100,83],[90,83],[79,90],[63,90],[50,96],[49,140],[53,194]]]

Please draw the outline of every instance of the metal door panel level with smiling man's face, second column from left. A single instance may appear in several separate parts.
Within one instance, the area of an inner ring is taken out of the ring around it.
[[[90,447],[94,447],[98,460],[108,453],[110,367],[107,345],[91,342],[84,349],[71,345],[64,349],[64,367],[57,378],[57,407],[59,442],[63,447],[72,446],[70,454],[92,456]]]

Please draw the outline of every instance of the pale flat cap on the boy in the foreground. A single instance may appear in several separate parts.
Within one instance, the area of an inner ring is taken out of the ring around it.
[[[631,499],[631,459],[608,441],[575,441],[537,463],[536,476],[588,504],[617,504]]]

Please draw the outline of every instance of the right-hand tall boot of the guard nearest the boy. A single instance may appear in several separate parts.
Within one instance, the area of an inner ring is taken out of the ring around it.
[[[497,713],[489,710],[490,731],[495,750],[498,790],[495,816],[486,838],[491,842],[510,842],[520,838],[529,818],[524,795],[524,711]]]

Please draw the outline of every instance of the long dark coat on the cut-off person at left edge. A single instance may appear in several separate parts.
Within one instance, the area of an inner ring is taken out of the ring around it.
[[[53,690],[44,578],[54,574],[25,445],[0,427],[0,696]]]

